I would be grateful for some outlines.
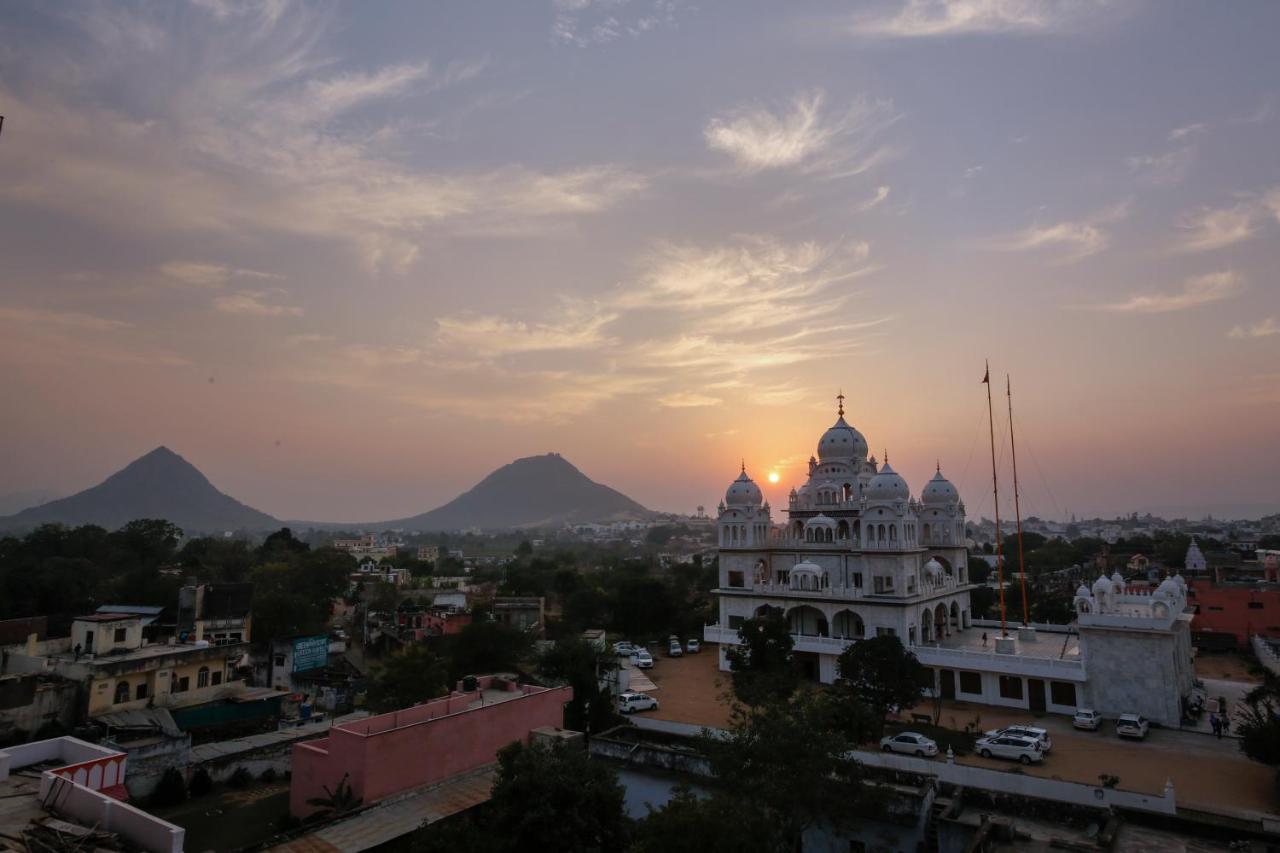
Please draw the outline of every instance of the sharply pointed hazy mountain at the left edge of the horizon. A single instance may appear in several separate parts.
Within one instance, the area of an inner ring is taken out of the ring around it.
[[[265,512],[219,492],[195,465],[168,447],[157,447],[93,488],[0,517],[0,529],[58,521],[114,530],[133,519],[168,519],[188,534],[280,526]]]

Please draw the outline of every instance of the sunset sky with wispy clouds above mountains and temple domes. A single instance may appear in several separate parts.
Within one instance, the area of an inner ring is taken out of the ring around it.
[[[1024,514],[1280,511],[1276,32],[1266,0],[9,3],[0,492],[165,444],[375,520],[557,451],[668,511],[745,461],[781,506],[842,391],[989,516],[989,359]]]

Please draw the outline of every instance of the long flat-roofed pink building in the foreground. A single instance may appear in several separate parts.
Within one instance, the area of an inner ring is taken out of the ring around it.
[[[541,726],[558,727],[572,688],[520,686],[484,676],[476,689],[403,711],[335,725],[326,738],[293,745],[289,812],[316,812],[307,800],[338,788],[343,775],[367,806],[384,797],[430,785],[497,761],[513,740],[529,740]]]

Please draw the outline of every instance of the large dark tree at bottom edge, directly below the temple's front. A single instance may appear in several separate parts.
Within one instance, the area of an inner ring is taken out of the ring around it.
[[[701,738],[723,795],[737,813],[759,817],[763,848],[778,852],[800,849],[812,826],[838,830],[865,813],[872,794],[849,757],[855,745],[804,690],[788,701],[737,706],[726,733]]]

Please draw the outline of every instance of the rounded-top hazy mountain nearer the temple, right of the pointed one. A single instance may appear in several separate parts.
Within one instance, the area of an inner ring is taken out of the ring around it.
[[[360,526],[403,530],[558,528],[652,515],[626,494],[591,480],[559,453],[547,453],[503,465],[471,491],[430,512]]]

